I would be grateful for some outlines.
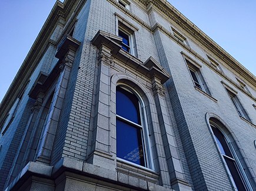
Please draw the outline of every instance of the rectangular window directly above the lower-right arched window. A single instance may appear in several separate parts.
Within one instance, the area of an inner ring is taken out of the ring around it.
[[[192,80],[194,81],[195,87],[199,88],[207,94],[211,94],[210,90],[207,87],[207,84],[204,81],[204,78],[202,77],[200,69],[197,66],[195,66],[195,64],[189,62],[189,60],[185,60],[188,64],[188,69],[191,74]]]

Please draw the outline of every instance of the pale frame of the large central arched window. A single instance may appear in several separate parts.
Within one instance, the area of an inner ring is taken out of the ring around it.
[[[115,121],[116,122],[117,122],[117,120],[126,121],[127,123],[136,125],[137,127],[141,128],[141,137],[142,137],[142,146],[144,149],[143,153],[144,153],[144,158],[145,158],[144,159],[145,166],[138,165],[137,163],[127,161],[125,159],[119,158],[118,156],[117,156],[117,160],[121,161],[121,162],[128,163],[129,165],[137,166],[142,169],[155,170],[154,163],[153,163],[153,156],[152,156],[152,152],[151,152],[152,147],[151,147],[151,142],[150,142],[150,138],[149,138],[149,127],[148,127],[148,123],[147,123],[148,120],[147,120],[147,111],[145,108],[145,103],[144,103],[142,97],[139,95],[139,93],[136,90],[134,90],[134,88],[128,86],[128,84],[118,83],[117,87],[123,88],[125,91],[128,91],[129,93],[134,94],[134,96],[136,96],[138,98],[141,125],[136,124],[135,122],[132,122],[132,121],[118,115],[117,113],[116,113]],[[117,87],[116,87],[116,89],[117,89]],[[116,100],[116,103],[117,103],[117,100]],[[116,106],[116,108],[117,108],[117,106]],[[116,128],[117,128],[117,125],[116,125]]]

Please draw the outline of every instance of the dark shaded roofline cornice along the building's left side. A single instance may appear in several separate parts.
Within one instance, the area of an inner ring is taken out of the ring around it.
[[[79,1],[79,6],[82,6],[84,2],[86,2],[86,0]],[[39,60],[44,55],[47,47],[58,43],[50,40],[50,36],[52,34],[52,30],[54,30],[56,26],[56,23],[58,23],[59,18],[67,19],[77,3],[78,1],[76,0],[66,0],[64,3],[56,1],[54,8],[52,8],[51,13],[49,13],[44,26],[36,37],[34,44],[29,50],[28,55],[0,104],[0,123],[4,120],[5,115],[11,109],[12,104],[14,104],[16,97],[18,97],[19,92],[24,88],[29,77],[31,77],[31,74],[38,65]]]

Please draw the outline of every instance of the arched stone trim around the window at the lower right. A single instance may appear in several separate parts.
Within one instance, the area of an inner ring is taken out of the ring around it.
[[[241,168],[244,169],[244,174],[246,176],[245,179],[247,179],[245,180],[245,182],[249,181],[252,189],[256,190],[256,176],[254,175],[254,172],[250,167],[248,159],[245,156],[245,152],[240,145],[239,139],[235,136],[234,131],[232,131],[229,125],[214,112],[207,112],[207,114],[205,115],[205,120],[207,122],[208,128],[211,132],[212,139],[214,140],[214,142],[215,138],[214,133],[212,132],[211,124],[217,127],[222,132],[228,144],[232,147],[231,150],[235,160],[237,161],[237,163],[239,163],[239,166],[241,166]],[[216,142],[215,145],[217,146]]]

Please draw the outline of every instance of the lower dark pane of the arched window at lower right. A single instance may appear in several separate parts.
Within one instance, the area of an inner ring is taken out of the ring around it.
[[[237,170],[237,166],[235,165],[235,162],[227,157],[224,157],[224,158],[228,165],[228,169],[230,169],[230,173],[232,175],[232,178],[235,182],[235,186],[237,187],[237,189],[238,190],[246,190],[244,187],[244,183],[242,183],[242,180],[241,180],[240,174]]]

